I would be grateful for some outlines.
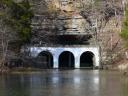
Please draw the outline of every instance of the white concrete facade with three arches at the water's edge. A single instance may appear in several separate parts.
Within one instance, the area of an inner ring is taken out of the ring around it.
[[[59,68],[59,56],[61,53],[65,51],[69,51],[74,55],[75,59],[75,67],[80,68],[80,56],[84,52],[91,52],[94,54],[93,57],[93,67],[100,67],[100,48],[99,47],[90,47],[90,46],[82,46],[82,47],[30,47],[30,55],[32,57],[37,57],[41,52],[46,51],[50,52],[53,56],[53,68]]]

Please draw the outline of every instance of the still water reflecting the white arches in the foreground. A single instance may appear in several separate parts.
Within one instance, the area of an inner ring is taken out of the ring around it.
[[[0,96],[128,96],[116,71],[44,70],[0,76]]]

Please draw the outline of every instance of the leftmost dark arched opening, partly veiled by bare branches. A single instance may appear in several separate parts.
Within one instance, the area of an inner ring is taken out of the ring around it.
[[[46,68],[50,69],[53,68],[53,56],[50,52],[43,51],[39,53],[36,59],[36,65],[37,68]]]

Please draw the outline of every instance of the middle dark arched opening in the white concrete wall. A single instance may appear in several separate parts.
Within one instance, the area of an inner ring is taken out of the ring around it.
[[[74,55],[65,51],[62,52],[59,56],[59,68],[74,68]]]

